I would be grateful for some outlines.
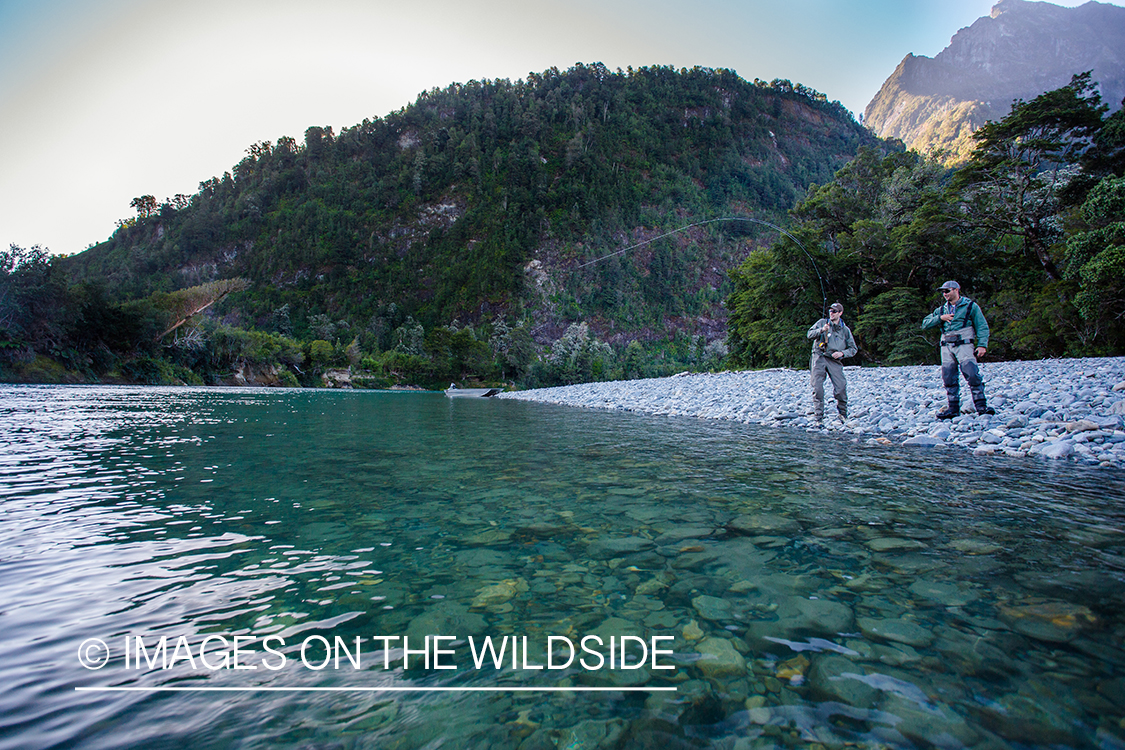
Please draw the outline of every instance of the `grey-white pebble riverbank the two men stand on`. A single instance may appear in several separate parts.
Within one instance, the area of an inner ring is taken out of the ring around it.
[[[1035,455],[1125,469],[1125,358],[982,362],[994,415],[935,415],[946,405],[937,365],[845,368],[848,418],[812,419],[807,370],[680,374],[502,394],[500,398],[644,414],[731,419],[849,434],[876,444],[957,448],[978,455]],[[963,408],[971,404],[961,382]],[[830,416],[829,416],[830,415]]]

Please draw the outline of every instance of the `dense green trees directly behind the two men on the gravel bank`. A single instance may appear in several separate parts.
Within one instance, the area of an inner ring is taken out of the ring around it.
[[[1125,353],[1125,109],[1105,114],[1084,73],[978,129],[958,170],[862,148],[735,271],[731,362],[807,367],[834,300],[861,362],[936,362],[919,328],[947,279],[984,310],[990,358]]]

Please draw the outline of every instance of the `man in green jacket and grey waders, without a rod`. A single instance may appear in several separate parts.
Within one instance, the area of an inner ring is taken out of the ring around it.
[[[958,368],[969,382],[976,413],[996,414],[984,399],[984,381],[976,367],[976,358],[984,356],[988,351],[989,332],[984,313],[980,305],[961,296],[961,284],[956,281],[946,281],[939,290],[945,296],[945,302],[921,322],[922,331],[935,326],[940,326],[942,329],[942,382],[950,405],[937,413],[937,418],[952,419],[961,414]],[[975,352],[973,338],[976,340]]]

